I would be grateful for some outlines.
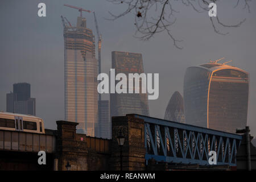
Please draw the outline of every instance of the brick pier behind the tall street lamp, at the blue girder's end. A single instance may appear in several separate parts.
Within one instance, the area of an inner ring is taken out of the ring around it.
[[[120,170],[120,147],[117,137],[121,131],[125,137],[122,147],[123,170],[144,170],[145,154],[144,146],[144,120],[135,118],[132,114],[124,117],[112,117],[112,142],[110,169]]]

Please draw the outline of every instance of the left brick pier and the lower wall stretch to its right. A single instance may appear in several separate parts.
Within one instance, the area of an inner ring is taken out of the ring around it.
[[[105,170],[108,169],[109,140],[86,137],[76,134],[74,122],[57,121],[57,159],[58,169],[67,170]]]

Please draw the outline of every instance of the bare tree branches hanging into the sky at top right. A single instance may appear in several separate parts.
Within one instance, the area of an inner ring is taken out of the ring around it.
[[[117,5],[126,5],[127,8],[123,13],[114,15],[109,12],[112,18],[109,20],[115,20],[129,13],[134,14],[134,25],[137,28],[135,37],[141,40],[149,40],[159,32],[166,32],[168,36],[174,42],[174,46],[178,49],[183,47],[179,46],[181,40],[177,40],[172,34],[171,26],[175,23],[175,14],[179,11],[174,9],[174,1],[180,1],[184,6],[192,7],[197,13],[203,13],[209,11],[209,4],[211,2],[216,3],[220,0],[106,0]],[[243,9],[247,9],[250,13],[249,2],[251,0],[237,0],[234,8],[238,7],[243,1]],[[222,27],[240,27],[246,19],[243,19],[237,24],[228,25],[220,22],[218,16],[210,17],[210,23],[212,24],[214,32],[220,35],[226,35],[218,30],[218,26]],[[139,34],[139,35],[138,35]],[[138,35],[138,36],[137,36]]]

